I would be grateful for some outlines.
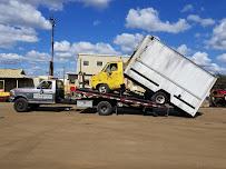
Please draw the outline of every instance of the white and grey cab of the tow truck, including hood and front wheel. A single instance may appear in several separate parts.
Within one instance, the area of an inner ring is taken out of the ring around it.
[[[10,100],[19,112],[39,105],[58,103],[65,99],[61,80],[43,80],[35,88],[17,88],[10,91]]]

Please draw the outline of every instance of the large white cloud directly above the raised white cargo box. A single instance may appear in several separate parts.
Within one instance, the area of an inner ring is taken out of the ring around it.
[[[161,21],[158,11],[154,8],[130,9],[126,18],[126,27],[146,31],[163,31],[169,33],[183,32],[190,28],[185,19],[177,22]]]

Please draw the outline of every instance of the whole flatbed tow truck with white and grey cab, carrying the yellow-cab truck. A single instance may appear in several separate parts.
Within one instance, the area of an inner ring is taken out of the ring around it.
[[[139,108],[144,115],[151,113],[154,108],[163,109],[168,115],[169,107],[144,99],[144,96],[126,92],[100,93],[91,89],[76,89],[77,97],[63,97],[63,84],[60,80],[43,80],[36,88],[18,88],[10,91],[10,100],[14,102],[17,112],[27,112],[40,105],[77,105],[78,108],[95,108],[100,116],[118,115],[118,107]]]

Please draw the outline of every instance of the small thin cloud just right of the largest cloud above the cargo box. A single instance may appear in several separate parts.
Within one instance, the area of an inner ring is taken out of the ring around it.
[[[204,19],[204,18],[200,18],[200,17],[197,16],[197,14],[189,14],[189,16],[187,17],[187,20],[197,22],[197,23],[199,23],[199,24],[203,26],[203,27],[207,27],[207,26],[213,26],[213,24],[215,24],[215,20],[214,20],[214,19],[212,19],[212,18],[206,18],[206,19]]]

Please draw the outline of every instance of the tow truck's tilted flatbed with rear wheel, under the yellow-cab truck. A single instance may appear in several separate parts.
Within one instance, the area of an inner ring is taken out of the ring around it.
[[[168,115],[169,107],[166,105],[157,105],[156,102],[143,99],[143,97],[135,97],[120,93],[100,93],[90,89],[77,89],[75,91],[77,97],[77,107],[96,108],[100,116],[108,116],[116,111],[118,115],[118,107],[136,107],[140,108],[144,113],[156,115],[153,108],[159,108]]]

